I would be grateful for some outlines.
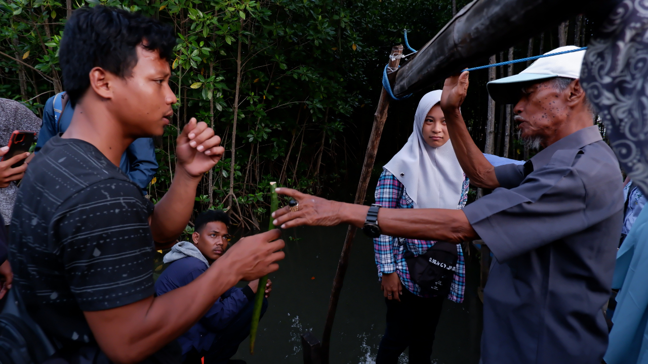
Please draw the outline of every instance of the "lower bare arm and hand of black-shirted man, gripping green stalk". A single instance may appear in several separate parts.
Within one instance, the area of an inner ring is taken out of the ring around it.
[[[139,363],[189,328],[239,280],[279,269],[285,257],[277,229],[242,238],[191,283],[159,297],[110,310],[84,312],[97,343],[119,364]]]

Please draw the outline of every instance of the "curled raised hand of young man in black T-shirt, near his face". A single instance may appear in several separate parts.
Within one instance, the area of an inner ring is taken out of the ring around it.
[[[176,155],[178,165],[192,177],[200,177],[220,161],[225,148],[220,146],[220,137],[206,122],[191,118],[178,135]]]

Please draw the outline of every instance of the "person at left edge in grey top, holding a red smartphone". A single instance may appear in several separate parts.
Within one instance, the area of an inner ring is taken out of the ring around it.
[[[0,159],[8,152],[7,144],[14,131],[34,131],[38,138],[40,124],[40,118],[34,115],[27,106],[8,98],[0,98],[0,145],[3,146],[0,148]],[[6,161],[0,161],[0,299],[5,297],[6,291],[11,288],[13,275],[7,260],[6,242],[14,201],[16,201],[18,192],[16,183],[23,178],[25,170],[27,170],[27,163],[16,166],[16,168],[12,168],[12,166],[24,161],[27,157],[29,157],[29,153],[21,153]]]

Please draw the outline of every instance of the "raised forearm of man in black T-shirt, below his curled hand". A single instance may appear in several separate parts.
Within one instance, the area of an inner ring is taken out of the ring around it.
[[[190,176],[183,168],[176,168],[167,193],[156,203],[150,226],[156,244],[172,244],[191,218],[196,201],[196,188],[201,177]]]

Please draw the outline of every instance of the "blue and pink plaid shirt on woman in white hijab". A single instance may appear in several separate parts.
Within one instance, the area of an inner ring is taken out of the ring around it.
[[[463,181],[461,198],[459,198],[457,203],[457,209],[461,209],[466,205],[466,201],[468,200],[468,186],[469,179],[466,178]],[[414,201],[408,196],[405,186],[388,170],[383,170],[380,179],[378,179],[375,198],[378,205],[388,209],[413,209],[414,207]],[[380,235],[373,240],[373,243],[376,266],[378,267],[378,277],[382,279],[382,273],[396,272],[399,275],[400,282],[408,291],[419,297],[426,297],[426,295],[421,293],[419,285],[411,281],[410,271],[408,270],[405,258],[403,258],[403,254],[407,247],[415,255],[421,255],[430,249],[435,244],[435,241]],[[461,244],[457,244],[457,254],[459,255],[457,259],[457,270],[452,279],[448,299],[454,302],[463,302],[466,275]]]

